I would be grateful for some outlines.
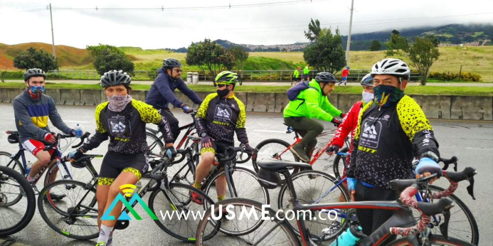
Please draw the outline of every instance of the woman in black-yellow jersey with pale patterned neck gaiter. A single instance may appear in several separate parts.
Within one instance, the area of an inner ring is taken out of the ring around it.
[[[98,226],[100,233],[97,246],[111,245],[111,231],[116,220],[101,220],[123,184],[135,184],[147,170],[147,142],[145,124],[157,124],[166,143],[166,155],[172,158],[173,135],[165,117],[152,106],[132,99],[129,92],[131,78],[127,73],[108,71],[101,76],[108,101],[96,107],[96,134],[78,150],[71,152],[71,161],[79,159],[83,153],[97,148],[109,137],[108,152],[105,154],[99,173],[96,199],[98,200]],[[118,202],[109,215],[118,218],[122,203]]]

